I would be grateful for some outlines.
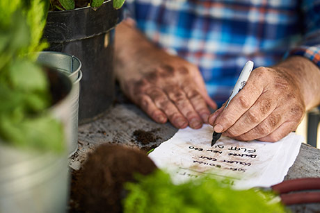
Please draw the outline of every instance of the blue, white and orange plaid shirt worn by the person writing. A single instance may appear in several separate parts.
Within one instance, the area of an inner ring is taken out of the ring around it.
[[[221,105],[247,60],[289,55],[320,66],[319,0],[127,0],[127,15],[161,48],[198,65]]]

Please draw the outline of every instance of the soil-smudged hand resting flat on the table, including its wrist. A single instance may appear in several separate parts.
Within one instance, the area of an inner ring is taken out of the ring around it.
[[[120,40],[123,35],[130,39]],[[152,46],[132,26],[120,24],[115,38],[117,78],[131,101],[159,123],[169,120],[177,128],[207,123],[207,104],[216,108],[216,103],[195,65]]]

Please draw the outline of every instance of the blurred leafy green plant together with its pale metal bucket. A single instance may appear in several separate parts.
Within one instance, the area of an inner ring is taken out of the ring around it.
[[[0,212],[65,211],[72,83],[35,63],[46,8],[0,3]]]

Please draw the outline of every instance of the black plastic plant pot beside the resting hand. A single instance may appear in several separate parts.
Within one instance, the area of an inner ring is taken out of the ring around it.
[[[113,103],[113,29],[120,16],[111,0],[97,10],[86,7],[48,13],[43,35],[50,44],[47,51],[77,56],[83,65],[79,123],[99,117]]]

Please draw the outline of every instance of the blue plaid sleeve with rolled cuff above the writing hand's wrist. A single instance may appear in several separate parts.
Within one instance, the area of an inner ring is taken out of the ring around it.
[[[320,0],[303,0],[303,40],[289,56],[304,56],[320,67]]]

